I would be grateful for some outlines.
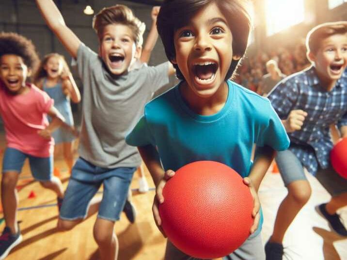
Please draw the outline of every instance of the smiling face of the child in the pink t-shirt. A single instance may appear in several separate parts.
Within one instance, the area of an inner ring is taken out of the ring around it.
[[[30,76],[30,70],[22,57],[15,54],[5,54],[0,57],[0,79],[9,92],[22,93],[27,76]]]

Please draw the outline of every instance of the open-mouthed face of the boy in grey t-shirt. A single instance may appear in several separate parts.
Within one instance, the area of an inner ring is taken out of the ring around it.
[[[109,24],[104,28],[99,55],[111,74],[119,76],[126,73],[138,51],[128,26]]]

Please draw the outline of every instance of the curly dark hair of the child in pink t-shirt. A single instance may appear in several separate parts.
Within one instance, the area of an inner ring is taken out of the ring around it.
[[[33,73],[40,61],[32,41],[15,32],[0,32],[0,57],[5,54],[22,57],[24,64]]]

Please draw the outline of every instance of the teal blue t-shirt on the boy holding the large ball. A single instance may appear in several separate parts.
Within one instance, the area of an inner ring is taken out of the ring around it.
[[[164,170],[211,160],[247,177],[253,143],[282,151],[288,148],[289,138],[268,99],[235,82],[227,83],[224,107],[209,116],[194,113],[182,99],[179,85],[175,86],[145,106],[144,115],[126,142],[157,147]]]

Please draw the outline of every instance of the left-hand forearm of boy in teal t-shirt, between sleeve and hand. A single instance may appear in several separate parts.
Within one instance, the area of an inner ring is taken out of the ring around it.
[[[140,146],[138,150],[157,187],[164,176],[164,169],[161,168],[157,150],[152,145]]]

